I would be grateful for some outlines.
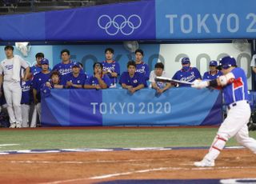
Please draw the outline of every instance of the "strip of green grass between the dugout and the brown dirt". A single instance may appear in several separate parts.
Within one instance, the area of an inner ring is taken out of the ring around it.
[[[0,150],[210,146],[217,128],[0,130]],[[250,132],[256,138],[256,132]],[[1,144],[19,144],[1,146]],[[226,146],[238,146],[234,139]]]

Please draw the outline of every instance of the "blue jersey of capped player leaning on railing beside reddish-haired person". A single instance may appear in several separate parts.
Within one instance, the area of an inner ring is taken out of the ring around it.
[[[66,82],[72,82],[73,84],[77,84],[77,85],[84,85],[87,79],[87,75],[86,74],[78,74],[78,77],[74,77],[73,73],[70,74],[65,74],[62,76],[61,78],[61,83],[62,85],[66,85]],[[75,89],[74,86],[70,86],[70,89]]]

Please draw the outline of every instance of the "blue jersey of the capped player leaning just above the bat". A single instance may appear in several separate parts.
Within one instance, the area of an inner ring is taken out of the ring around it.
[[[190,67],[189,70],[178,70],[175,74],[173,79],[178,81],[185,81],[185,82],[194,82],[194,80],[200,78],[201,74],[195,67]],[[190,86],[189,84],[179,84],[181,87]]]

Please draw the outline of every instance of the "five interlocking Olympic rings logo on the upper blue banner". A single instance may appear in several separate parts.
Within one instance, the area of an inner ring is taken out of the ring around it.
[[[113,20],[109,15],[102,14],[98,18],[98,26],[106,31],[106,34],[114,36],[120,31],[122,34],[128,36],[134,33],[134,30],[138,29],[142,25],[142,19],[138,14],[132,14],[126,19],[122,14],[114,16]]]

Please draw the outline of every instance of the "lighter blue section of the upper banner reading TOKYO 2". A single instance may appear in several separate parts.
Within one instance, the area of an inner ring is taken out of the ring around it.
[[[254,0],[157,0],[156,39],[255,38]]]

